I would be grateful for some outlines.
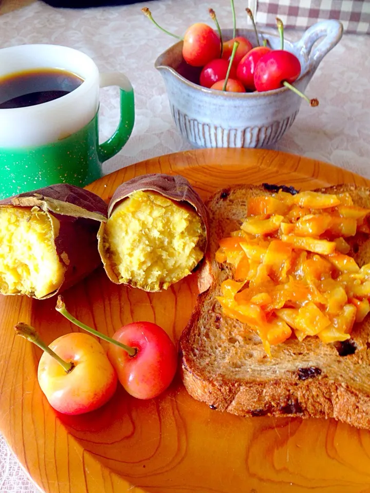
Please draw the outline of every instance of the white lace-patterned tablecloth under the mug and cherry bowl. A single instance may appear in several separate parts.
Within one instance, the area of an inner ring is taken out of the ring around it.
[[[18,2],[19,3],[19,2]],[[28,3],[28,2],[26,2]],[[247,24],[243,2],[235,2],[238,25]],[[225,0],[160,0],[147,4],[160,23],[182,34],[194,22],[208,22],[212,6],[223,27],[231,27]],[[37,1],[0,16],[0,46],[53,43],[87,53],[101,71],[122,71],[130,78],[136,99],[133,134],[104,173],[146,158],[190,148],[172,121],[157,56],[172,39],[140,12],[146,4],[96,9],[54,9]],[[302,33],[286,32],[297,40]],[[370,36],[344,34],[323,60],[307,88],[320,100],[318,108],[304,102],[293,126],[274,146],[294,154],[330,162],[370,178]],[[105,140],[118,123],[118,89],[101,91],[100,136]],[[0,435],[0,491],[38,491],[26,478]]]

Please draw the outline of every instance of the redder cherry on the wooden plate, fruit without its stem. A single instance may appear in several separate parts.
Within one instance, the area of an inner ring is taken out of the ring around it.
[[[152,399],[171,384],[177,352],[168,334],[151,322],[134,322],[119,329],[115,340],[136,348],[135,356],[110,344],[108,358],[124,389],[137,399]]]

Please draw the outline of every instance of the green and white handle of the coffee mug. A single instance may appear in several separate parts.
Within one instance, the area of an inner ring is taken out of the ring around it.
[[[126,75],[121,72],[101,73],[100,87],[107,86],[120,88],[120,121],[113,136],[98,146],[98,155],[102,163],[122,149],[131,135],[135,122],[134,90]]]

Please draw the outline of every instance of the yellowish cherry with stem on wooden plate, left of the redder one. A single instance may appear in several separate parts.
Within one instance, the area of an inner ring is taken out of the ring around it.
[[[17,324],[15,331],[44,350],[38,381],[55,410],[70,415],[94,411],[115,393],[116,371],[94,337],[75,332],[47,346],[27,324]]]

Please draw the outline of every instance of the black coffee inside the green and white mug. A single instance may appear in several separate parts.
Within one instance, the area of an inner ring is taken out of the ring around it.
[[[0,78],[0,109],[23,108],[61,98],[83,83],[75,73],[39,68]]]

